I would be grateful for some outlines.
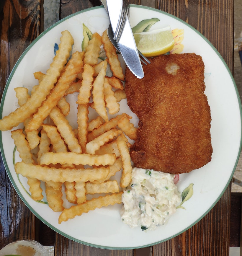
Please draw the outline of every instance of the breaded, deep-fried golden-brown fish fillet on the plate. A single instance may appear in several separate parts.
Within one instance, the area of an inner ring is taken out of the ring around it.
[[[179,174],[210,162],[211,115],[202,57],[158,56],[143,69],[143,79],[125,71],[127,103],[140,119],[130,151],[135,166]]]

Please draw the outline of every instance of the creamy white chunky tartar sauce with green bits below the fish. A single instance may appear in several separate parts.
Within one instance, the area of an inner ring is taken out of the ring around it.
[[[122,195],[121,219],[131,228],[154,230],[176,212],[180,200],[174,175],[135,167],[130,186]]]

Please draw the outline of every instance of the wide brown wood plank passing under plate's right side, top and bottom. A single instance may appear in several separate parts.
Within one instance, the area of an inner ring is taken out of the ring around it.
[[[158,0],[158,9],[179,17],[200,31],[233,72],[233,1]],[[153,255],[203,255],[203,252],[206,255],[229,255],[230,193],[231,183],[200,222],[178,237],[154,246]]]

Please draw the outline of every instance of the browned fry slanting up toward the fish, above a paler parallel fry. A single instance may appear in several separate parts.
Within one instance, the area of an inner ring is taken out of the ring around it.
[[[110,119],[108,122],[100,125],[98,128],[94,129],[91,133],[87,135],[87,141],[92,141],[97,138],[99,135],[109,131],[112,128],[115,128],[118,125],[118,121],[125,113],[117,115],[116,117]]]

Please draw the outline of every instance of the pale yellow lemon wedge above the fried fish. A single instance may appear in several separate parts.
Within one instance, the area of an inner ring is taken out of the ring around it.
[[[138,50],[146,57],[165,54],[174,47],[170,27],[134,34]]]

